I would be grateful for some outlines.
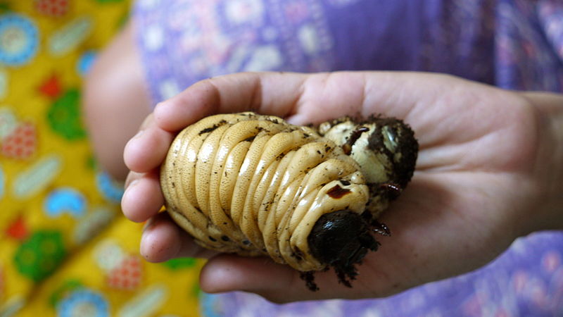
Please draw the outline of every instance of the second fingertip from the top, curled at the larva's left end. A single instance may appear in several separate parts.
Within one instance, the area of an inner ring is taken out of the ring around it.
[[[153,170],[164,161],[173,138],[172,133],[149,123],[125,145],[123,151],[125,165],[139,173]]]

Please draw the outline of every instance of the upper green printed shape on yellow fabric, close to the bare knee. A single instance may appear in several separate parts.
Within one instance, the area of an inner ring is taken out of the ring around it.
[[[54,132],[68,140],[84,139],[86,131],[80,120],[80,92],[69,89],[49,108],[47,120]]]

